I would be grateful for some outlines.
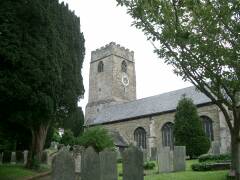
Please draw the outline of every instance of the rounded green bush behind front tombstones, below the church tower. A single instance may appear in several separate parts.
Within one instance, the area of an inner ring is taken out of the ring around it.
[[[86,148],[92,146],[97,152],[103,151],[105,148],[112,149],[114,147],[113,140],[107,130],[100,127],[87,129],[78,138],[77,144]]]

